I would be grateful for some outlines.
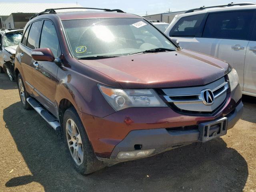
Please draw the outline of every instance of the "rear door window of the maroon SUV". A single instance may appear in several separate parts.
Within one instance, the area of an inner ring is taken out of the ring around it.
[[[40,34],[40,28],[42,26],[42,21],[36,21],[32,23],[29,34],[27,46],[31,49],[36,48],[36,42]]]

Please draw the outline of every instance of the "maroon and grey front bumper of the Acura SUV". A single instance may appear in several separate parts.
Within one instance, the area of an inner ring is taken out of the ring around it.
[[[134,151],[134,144],[143,149],[156,149],[154,154],[197,142],[198,130],[173,133],[180,126],[194,126],[228,118],[228,128],[234,126],[242,114],[242,93],[237,86],[227,95],[226,103],[215,114],[182,114],[171,107],[126,108],[103,118],[81,112],[80,118],[94,153],[100,160],[116,160],[120,151]],[[149,140],[150,141],[149,141]],[[139,141],[143,141],[139,142]]]

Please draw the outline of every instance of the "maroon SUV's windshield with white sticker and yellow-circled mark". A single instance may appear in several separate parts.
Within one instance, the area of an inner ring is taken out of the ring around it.
[[[143,19],[94,18],[62,23],[76,58],[126,56],[156,48],[176,50],[168,38]]]

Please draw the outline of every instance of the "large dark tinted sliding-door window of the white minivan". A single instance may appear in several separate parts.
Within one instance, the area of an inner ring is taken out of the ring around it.
[[[253,11],[209,14],[203,37],[249,39]]]

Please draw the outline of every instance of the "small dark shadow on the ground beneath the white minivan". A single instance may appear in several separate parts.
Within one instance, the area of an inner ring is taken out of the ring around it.
[[[256,123],[256,117],[254,115],[256,114],[256,97],[243,95],[242,102],[244,104],[244,113],[241,119],[248,122]],[[245,112],[249,110],[250,113]]]

